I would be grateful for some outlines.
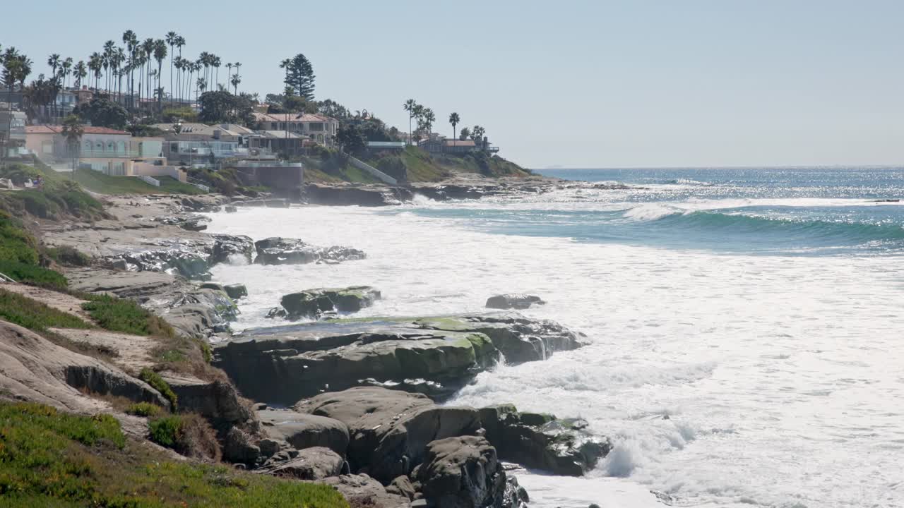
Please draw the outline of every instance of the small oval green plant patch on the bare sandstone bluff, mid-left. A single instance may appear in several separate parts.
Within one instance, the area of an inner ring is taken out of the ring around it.
[[[134,300],[108,295],[89,295],[82,304],[101,328],[133,335],[174,336],[173,328],[161,317],[151,314]]]

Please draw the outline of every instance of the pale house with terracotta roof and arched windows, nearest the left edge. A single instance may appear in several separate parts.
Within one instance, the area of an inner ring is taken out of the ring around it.
[[[133,175],[137,167],[165,166],[162,137],[133,137],[124,130],[84,126],[79,146],[70,146],[61,126],[25,127],[25,146],[45,163],[69,163],[104,174]],[[152,170],[149,170],[152,171]]]

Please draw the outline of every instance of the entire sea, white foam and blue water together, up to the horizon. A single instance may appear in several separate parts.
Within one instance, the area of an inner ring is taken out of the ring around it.
[[[629,188],[214,214],[214,232],[368,254],[214,275],[249,288],[238,329],[310,287],[378,287],[363,316],[541,296],[525,315],[591,344],[450,402],[579,416],[612,439],[587,477],[522,472],[532,506],[904,506],[904,169],[543,173]]]

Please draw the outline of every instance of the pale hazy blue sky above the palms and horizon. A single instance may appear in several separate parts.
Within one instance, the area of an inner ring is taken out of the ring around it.
[[[52,52],[175,31],[263,98],[302,52],[316,99],[402,130],[415,99],[448,136],[456,111],[532,168],[904,165],[899,0],[4,4],[0,45],[33,77]]]

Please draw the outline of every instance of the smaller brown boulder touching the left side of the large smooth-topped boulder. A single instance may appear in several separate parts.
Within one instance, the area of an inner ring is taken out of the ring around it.
[[[345,456],[349,443],[348,427],[337,419],[299,413],[290,409],[265,409],[257,413],[262,431],[269,437],[286,441],[292,447],[327,447]]]

